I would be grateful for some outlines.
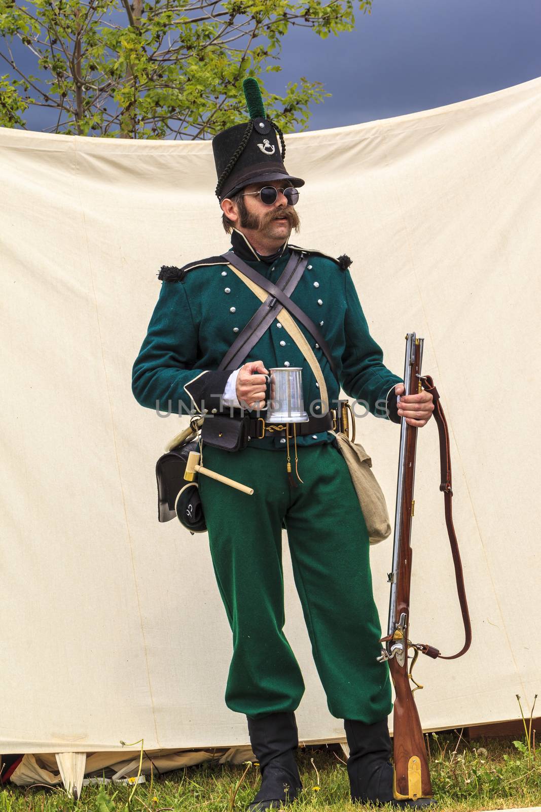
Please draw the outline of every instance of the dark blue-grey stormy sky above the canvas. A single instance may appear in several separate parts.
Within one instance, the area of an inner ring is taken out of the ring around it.
[[[16,41],[12,48],[39,72]],[[281,67],[264,79],[269,90],[281,93],[286,81],[307,76],[332,93],[313,106],[311,130],[460,102],[541,76],[541,0],[374,0],[354,32],[320,40],[292,28]],[[35,130],[57,116],[40,108],[24,114]]]

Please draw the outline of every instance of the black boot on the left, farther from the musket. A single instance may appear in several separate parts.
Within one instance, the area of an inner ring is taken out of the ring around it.
[[[295,749],[297,723],[293,713],[273,713],[248,719],[251,749],[260,762],[261,787],[250,804],[250,812],[281,809],[291,803],[303,788],[298,775]]]

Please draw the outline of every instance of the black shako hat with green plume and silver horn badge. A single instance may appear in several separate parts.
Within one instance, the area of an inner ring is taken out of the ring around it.
[[[213,138],[216,195],[220,201],[261,180],[289,180],[293,186],[304,185],[302,178],[294,178],[284,166],[284,136],[280,127],[265,116],[259,84],[250,77],[243,81],[243,90],[250,121],[228,127]]]

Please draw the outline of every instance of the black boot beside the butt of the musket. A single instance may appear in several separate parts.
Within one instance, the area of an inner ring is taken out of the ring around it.
[[[391,803],[397,809],[419,809],[436,804],[432,798],[397,801],[393,796],[393,765],[389,762],[391,738],[387,719],[374,724],[345,719],[344,728],[350,746],[347,772],[354,803],[366,804],[371,801],[376,806]]]

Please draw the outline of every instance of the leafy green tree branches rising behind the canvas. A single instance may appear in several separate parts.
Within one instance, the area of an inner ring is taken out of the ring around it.
[[[371,0],[357,7],[370,14]],[[246,120],[242,81],[281,71],[291,27],[324,39],[354,28],[354,11],[354,0],[0,0],[0,126],[26,127],[42,107],[56,119],[48,132],[209,138]],[[14,40],[37,75],[17,64]],[[286,132],[328,96],[306,76],[263,94]]]

